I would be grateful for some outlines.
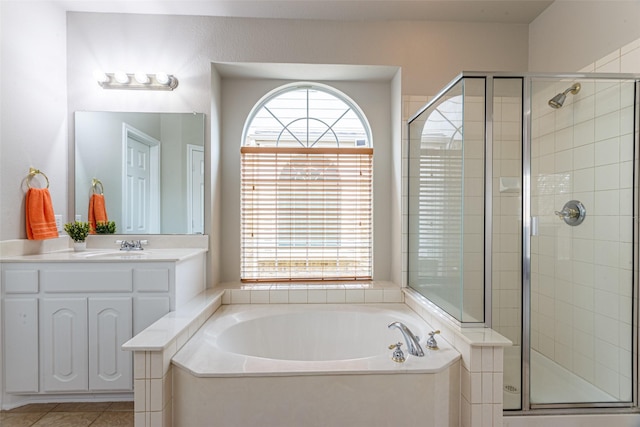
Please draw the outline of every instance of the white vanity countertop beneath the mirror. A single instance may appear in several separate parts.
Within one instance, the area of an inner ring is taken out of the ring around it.
[[[0,262],[177,262],[205,252],[207,252],[207,250],[203,248],[154,248],[142,251],[87,249],[86,251],[80,252],[64,250],[37,255],[1,257]]]

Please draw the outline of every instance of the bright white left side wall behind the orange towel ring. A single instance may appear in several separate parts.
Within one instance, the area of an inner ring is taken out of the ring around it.
[[[0,3],[0,240],[26,238],[25,178],[41,169],[67,207],[66,16],[53,3]]]

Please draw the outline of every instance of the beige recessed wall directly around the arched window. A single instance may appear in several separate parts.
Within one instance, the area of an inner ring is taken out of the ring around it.
[[[286,68],[286,67],[285,67]],[[306,68],[306,67],[300,67]],[[347,67],[348,69],[349,67]],[[392,244],[391,206],[393,139],[390,126],[391,89],[387,81],[318,81],[351,98],[363,111],[371,127],[373,160],[373,279],[391,280]],[[251,109],[265,94],[290,83],[274,79],[226,78],[222,81],[222,158],[220,280],[240,280],[240,143]],[[399,191],[399,190],[398,190]],[[396,203],[395,206],[398,206]],[[399,206],[397,208],[399,211]],[[399,269],[399,265],[398,265]]]

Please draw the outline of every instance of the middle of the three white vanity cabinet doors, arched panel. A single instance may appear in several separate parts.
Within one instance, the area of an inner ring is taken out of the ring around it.
[[[42,300],[44,391],[88,388],[87,300]]]

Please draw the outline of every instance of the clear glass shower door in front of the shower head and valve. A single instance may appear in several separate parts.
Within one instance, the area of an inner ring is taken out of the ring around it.
[[[530,275],[523,275],[529,310],[523,387],[531,408],[629,405],[635,83],[528,83],[531,143],[524,153],[524,183],[530,198],[523,205],[523,265]]]

